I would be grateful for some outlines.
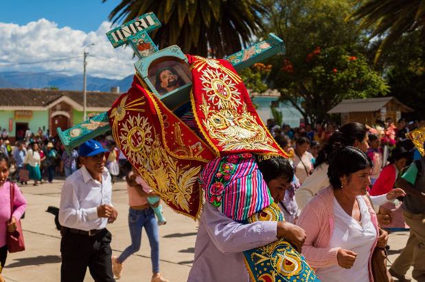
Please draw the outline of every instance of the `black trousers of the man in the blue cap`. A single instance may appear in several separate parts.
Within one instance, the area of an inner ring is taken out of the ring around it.
[[[94,236],[67,233],[60,242],[61,282],[83,282],[87,267],[96,282],[115,282],[112,272],[111,233]]]

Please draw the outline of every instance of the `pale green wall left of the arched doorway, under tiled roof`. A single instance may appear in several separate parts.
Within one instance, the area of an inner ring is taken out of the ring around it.
[[[6,128],[9,130],[9,119],[13,119],[13,128],[12,132],[9,132],[9,135],[14,137],[16,135],[16,122],[18,123],[28,123],[28,127],[32,132],[36,132],[39,127],[45,130],[49,128],[49,110],[33,110],[32,119],[14,119],[14,110],[0,110],[0,127],[1,130]]]

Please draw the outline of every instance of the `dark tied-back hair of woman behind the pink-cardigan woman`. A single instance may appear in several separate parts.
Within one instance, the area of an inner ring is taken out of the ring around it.
[[[318,167],[322,163],[329,163],[329,155],[341,146],[352,146],[358,140],[363,142],[367,134],[367,128],[364,124],[358,122],[350,122],[344,124],[338,131],[332,133],[323,148],[317,154],[314,167]]]

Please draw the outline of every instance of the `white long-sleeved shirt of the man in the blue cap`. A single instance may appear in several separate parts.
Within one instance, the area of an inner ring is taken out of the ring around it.
[[[102,183],[93,179],[83,165],[65,180],[60,194],[59,222],[84,231],[102,229],[108,218],[97,218],[97,207],[111,204],[111,175],[104,168]]]

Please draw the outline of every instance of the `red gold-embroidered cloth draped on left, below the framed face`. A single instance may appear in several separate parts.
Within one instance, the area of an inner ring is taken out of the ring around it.
[[[202,191],[196,181],[217,157],[135,76],[108,110],[113,137],[128,161],[174,211],[198,218]]]

